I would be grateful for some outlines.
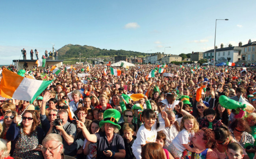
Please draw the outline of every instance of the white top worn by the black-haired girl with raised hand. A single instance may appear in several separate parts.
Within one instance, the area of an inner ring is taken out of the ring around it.
[[[148,131],[144,124],[139,127],[137,132],[137,138],[132,144],[132,149],[141,152],[141,145],[147,144],[148,142],[156,142],[156,135],[158,131],[161,131],[165,128],[165,121],[163,120],[161,114],[158,115],[159,119],[159,128],[156,129],[156,122],[152,126],[151,130]]]

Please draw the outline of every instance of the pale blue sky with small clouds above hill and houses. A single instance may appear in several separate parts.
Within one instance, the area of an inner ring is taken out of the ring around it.
[[[0,65],[52,45],[181,54],[256,41],[255,0],[2,0]],[[151,50],[151,51],[148,51]],[[21,57],[22,58],[22,57]],[[27,55],[30,59],[30,56]]]

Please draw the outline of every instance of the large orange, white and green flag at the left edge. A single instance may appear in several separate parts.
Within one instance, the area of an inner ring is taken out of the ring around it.
[[[0,94],[5,98],[26,100],[32,103],[52,81],[40,81],[22,77],[4,68]]]

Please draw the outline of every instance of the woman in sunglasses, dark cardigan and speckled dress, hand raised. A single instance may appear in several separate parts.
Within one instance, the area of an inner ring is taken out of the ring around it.
[[[17,127],[17,123],[21,120],[20,127]],[[35,150],[37,145],[42,144],[46,135],[38,124],[37,116],[31,110],[27,110],[22,116],[19,115],[14,118],[6,133],[6,139],[11,141],[11,154],[13,157],[43,159],[42,152]]]

